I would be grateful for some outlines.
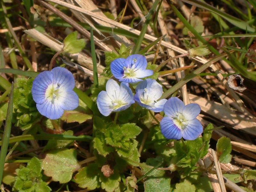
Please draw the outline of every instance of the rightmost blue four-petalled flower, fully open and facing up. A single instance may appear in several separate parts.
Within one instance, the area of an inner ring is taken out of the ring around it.
[[[195,140],[203,132],[203,126],[196,119],[201,108],[198,104],[184,103],[177,97],[167,100],[164,105],[165,116],[160,122],[161,132],[167,139]]]

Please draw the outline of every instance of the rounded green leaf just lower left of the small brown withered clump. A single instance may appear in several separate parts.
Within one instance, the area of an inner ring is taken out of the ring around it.
[[[100,169],[96,163],[89,164],[87,167],[78,170],[75,182],[79,187],[87,188],[88,190],[100,188],[99,172]]]

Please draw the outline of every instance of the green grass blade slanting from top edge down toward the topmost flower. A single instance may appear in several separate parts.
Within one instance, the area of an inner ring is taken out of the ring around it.
[[[152,19],[152,16],[153,16],[153,14],[154,14],[154,12],[156,10],[156,6],[157,6],[158,3],[159,3],[159,1],[155,1],[154,2],[154,4],[152,5],[152,7],[151,7],[151,9],[150,9],[150,11],[149,11],[149,13],[148,13],[148,15],[146,17],[145,23],[144,23],[144,25],[143,25],[143,27],[142,27],[142,29],[140,31],[140,35],[139,35],[139,37],[137,39],[137,42],[135,44],[135,47],[133,49],[133,54],[138,53],[139,50],[140,50],[140,46],[142,44],[144,35],[145,35],[145,33],[147,31],[147,28],[148,28],[148,24],[149,24],[150,20]]]

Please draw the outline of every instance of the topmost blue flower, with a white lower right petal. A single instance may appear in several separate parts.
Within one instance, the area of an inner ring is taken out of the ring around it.
[[[112,74],[119,81],[136,83],[142,81],[140,78],[148,77],[154,72],[147,68],[147,60],[143,55],[135,54],[124,58],[118,58],[110,63]]]

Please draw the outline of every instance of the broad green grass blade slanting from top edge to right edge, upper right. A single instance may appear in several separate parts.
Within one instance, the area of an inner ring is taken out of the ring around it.
[[[195,5],[197,7],[206,9],[208,11],[214,12],[216,14],[218,14],[220,17],[222,17],[223,19],[227,20],[228,22],[232,23],[233,25],[235,25],[238,28],[241,28],[243,30],[247,30],[251,33],[255,32],[255,29],[252,28],[247,22],[240,20],[232,15],[229,15],[228,13],[222,12],[219,9],[213,7],[212,5],[209,5],[207,3],[205,3],[204,1],[198,1],[198,0],[182,0],[188,4],[191,5]]]

